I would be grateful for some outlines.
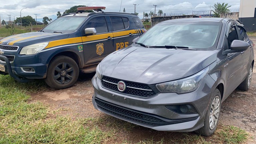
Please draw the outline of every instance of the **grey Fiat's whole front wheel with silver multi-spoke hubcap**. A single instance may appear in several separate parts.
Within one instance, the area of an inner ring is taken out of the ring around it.
[[[211,100],[204,118],[204,126],[196,130],[195,132],[203,136],[212,135],[216,130],[219,122],[220,109],[221,109],[221,94],[220,94],[220,91],[216,88],[211,96]],[[214,112],[216,112],[215,116],[213,114]],[[217,120],[216,120],[216,117],[217,117]]]

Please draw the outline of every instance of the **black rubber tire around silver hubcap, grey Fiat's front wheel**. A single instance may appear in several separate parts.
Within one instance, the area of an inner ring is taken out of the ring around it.
[[[210,119],[210,111],[211,111],[211,106],[212,106],[212,102],[213,100],[218,96],[220,103],[219,103],[219,114],[218,114],[218,119],[217,119],[217,123],[215,125],[215,127],[213,129],[210,129],[210,125],[209,125],[209,119]],[[207,108],[207,112],[204,118],[204,126],[198,130],[196,130],[195,132],[203,135],[203,136],[210,136],[214,133],[214,131],[217,128],[218,122],[219,122],[219,117],[220,117],[220,109],[221,109],[221,94],[220,91],[216,88],[211,96],[210,102],[209,102],[209,106]]]

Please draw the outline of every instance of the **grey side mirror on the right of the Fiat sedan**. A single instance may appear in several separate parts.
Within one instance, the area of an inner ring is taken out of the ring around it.
[[[243,52],[250,47],[250,44],[241,40],[234,40],[231,45],[230,49],[223,51],[223,55],[234,53],[234,52]]]

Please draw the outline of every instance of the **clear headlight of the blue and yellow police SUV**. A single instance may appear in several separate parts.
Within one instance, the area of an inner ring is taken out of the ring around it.
[[[29,46],[25,46],[21,49],[20,54],[21,55],[32,55],[37,54],[41,50],[43,50],[49,43],[37,43]]]

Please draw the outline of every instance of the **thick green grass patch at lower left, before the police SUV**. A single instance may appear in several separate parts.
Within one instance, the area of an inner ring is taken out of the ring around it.
[[[107,143],[114,132],[103,132],[92,118],[51,116],[40,102],[28,103],[28,93],[43,91],[45,83],[22,84],[0,76],[0,143]]]

